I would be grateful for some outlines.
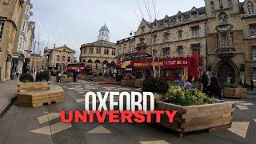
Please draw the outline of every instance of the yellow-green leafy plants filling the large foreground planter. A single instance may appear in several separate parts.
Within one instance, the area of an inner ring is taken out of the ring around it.
[[[186,90],[181,86],[170,86],[166,94],[166,102],[179,106],[192,106],[214,103],[214,98],[197,89]]]

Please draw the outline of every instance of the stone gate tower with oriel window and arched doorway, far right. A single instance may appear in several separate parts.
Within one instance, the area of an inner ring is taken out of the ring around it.
[[[256,83],[256,2],[206,0],[209,66],[220,82]]]

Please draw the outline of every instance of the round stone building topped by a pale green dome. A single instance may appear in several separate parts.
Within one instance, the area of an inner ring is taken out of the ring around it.
[[[80,48],[80,62],[90,63],[94,73],[106,73],[115,66],[116,44],[110,42],[110,30],[102,26],[96,42],[83,44]]]

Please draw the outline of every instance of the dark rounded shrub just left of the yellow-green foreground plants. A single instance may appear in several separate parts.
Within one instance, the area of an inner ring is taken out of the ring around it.
[[[162,78],[146,78],[142,82],[142,90],[158,94],[166,94],[169,86],[168,83]]]

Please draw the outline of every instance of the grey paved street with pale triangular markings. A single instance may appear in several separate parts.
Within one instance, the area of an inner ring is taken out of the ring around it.
[[[71,123],[59,120],[60,110],[83,110],[87,91],[131,91],[134,88],[98,85],[78,81],[59,84],[65,102],[27,108],[14,105],[0,118],[0,143],[254,143],[256,138],[256,96],[249,95],[235,107],[230,130],[211,134],[200,132],[178,138],[172,131],[147,124]]]

